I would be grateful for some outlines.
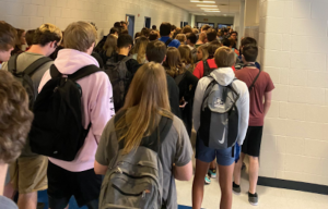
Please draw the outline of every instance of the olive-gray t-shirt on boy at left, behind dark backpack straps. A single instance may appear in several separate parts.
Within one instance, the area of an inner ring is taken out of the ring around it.
[[[38,60],[43,57],[44,57],[43,54],[31,53],[28,51],[21,53],[17,58],[17,63],[16,63],[17,72],[23,72],[33,62],[35,62],[36,60]],[[45,72],[50,69],[52,63],[54,63],[52,61],[49,61],[49,62],[45,63],[38,70],[36,70],[31,76],[31,79],[32,79],[33,85],[34,85],[35,99],[36,99],[36,96],[38,95],[38,85],[39,85]],[[8,71],[8,62],[2,63],[1,69]],[[22,150],[21,157],[33,157],[33,156],[36,156],[36,153],[33,153],[31,151],[30,140],[27,138],[25,147]]]

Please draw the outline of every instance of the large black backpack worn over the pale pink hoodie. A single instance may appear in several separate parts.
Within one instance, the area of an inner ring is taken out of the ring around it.
[[[65,161],[74,160],[89,133],[82,126],[82,89],[78,79],[99,72],[89,65],[62,77],[55,64],[51,79],[43,87],[34,103],[34,121],[30,132],[32,151]]]

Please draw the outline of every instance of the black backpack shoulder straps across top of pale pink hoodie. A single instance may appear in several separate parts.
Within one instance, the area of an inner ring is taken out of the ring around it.
[[[71,75],[68,75],[68,78],[73,81],[73,82],[77,82],[78,79],[81,79],[87,75],[91,75],[93,73],[96,73],[96,72],[101,72],[102,70],[98,69],[96,65],[94,64],[91,64],[91,65],[87,65],[87,66],[84,66],[82,69],[80,69],[79,71],[77,71],[75,73],[71,74]],[[61,76],[62,74],[58,71],[58,69],[56,67],[55,64],[52,64],[50,66],[50,75],[51,77],[59,77]]]

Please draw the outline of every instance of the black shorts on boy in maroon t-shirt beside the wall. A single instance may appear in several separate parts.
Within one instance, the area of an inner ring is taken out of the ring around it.
[[[242,152],[251,157],[259,157],[263,126],[248,126],[247,134],[242,146]]]

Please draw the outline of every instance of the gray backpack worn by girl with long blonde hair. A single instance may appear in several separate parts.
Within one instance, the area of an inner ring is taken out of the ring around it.
[[[115,116],[117,122],[122,115]],[[137,150],[122,155],[124,140],[114,165],[109,165],[103,181],[99,209],[161,209],[163,199],[163,168],[159,158],[160,146],[167,136],[173,121],[162,116],[151,136],[142,138]],[[121,133],[121,132],[120,132]],[[116,132],[117,138],[120,136]]]

